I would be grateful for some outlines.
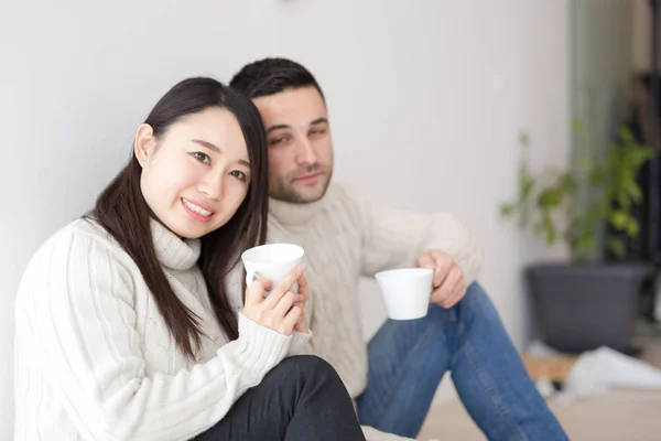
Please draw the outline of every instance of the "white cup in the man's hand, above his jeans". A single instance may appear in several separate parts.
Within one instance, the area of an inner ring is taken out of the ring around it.
[[[432,269],[392,269],[378,272],[375,277],[390,319],[413,320],[426,315],[434,277]]]

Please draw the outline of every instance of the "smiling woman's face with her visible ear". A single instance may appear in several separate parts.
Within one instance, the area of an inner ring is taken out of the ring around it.
[[[159,220],[174,234],[199,238],[225,225],[250,184],[243,133],[227,109],[212,107],[171,125],[160,138],[149,125],[136,133],[140,186]]]

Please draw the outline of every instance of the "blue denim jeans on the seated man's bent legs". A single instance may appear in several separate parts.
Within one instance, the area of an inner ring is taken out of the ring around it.
[[[387,321],[368,352],[368,385],[357,400],[361,424],[415,438],[449,370],[489,440],[567,440],[477,283],[448,310],[430,304],[423,319]]]

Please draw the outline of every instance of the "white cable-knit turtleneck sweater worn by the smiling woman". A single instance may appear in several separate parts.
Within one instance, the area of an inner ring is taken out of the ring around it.
[[[199,240],[156,222],[152,237],[175,294],[201,318],[196,359],[178,351],[132,259],[76,220],[37,250],[18,292],[15,440],[188,440],[306,345],[310,334],[285,336],[242,314],[228,342],[196,265]],[[237,311],[241,270],[228,280]]]

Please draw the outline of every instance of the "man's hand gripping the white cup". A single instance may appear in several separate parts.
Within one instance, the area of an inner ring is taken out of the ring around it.
[[[415,259],[415,265],[434,270],[430,299],[432,303],[449,309],[466,295],[464,271],[445,252],[437,249],[421,252]]]

